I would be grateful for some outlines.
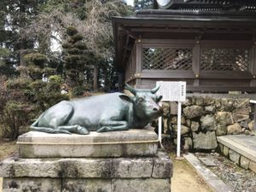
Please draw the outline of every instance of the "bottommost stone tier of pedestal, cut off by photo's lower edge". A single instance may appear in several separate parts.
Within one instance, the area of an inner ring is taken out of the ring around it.
[[[171,192],[171,180],[170,178],[4,178],[3,192],[23,191]]]

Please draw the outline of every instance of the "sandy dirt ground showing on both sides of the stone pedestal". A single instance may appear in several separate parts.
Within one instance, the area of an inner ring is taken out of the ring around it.
[[[0,160],[13,154],[17,149],[15,142],[0,140]],[[171,153],[173,161],[172,192],[212,192],[206,183],[197,175],[186,160],[176,160]],[[0,192],[3,189],[3,178],[0,177]]]

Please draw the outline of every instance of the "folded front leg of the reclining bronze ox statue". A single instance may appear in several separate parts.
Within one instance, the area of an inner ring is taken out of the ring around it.
[[[128,130],[128,124],[126,121],[103,120],[101,125],[102,127],[99,130],[97,130],[97,132]]]

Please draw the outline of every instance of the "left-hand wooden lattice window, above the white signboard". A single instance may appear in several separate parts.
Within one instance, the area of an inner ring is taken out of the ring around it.
[[[143,69],[192,70],[192,48],[143,48]]]

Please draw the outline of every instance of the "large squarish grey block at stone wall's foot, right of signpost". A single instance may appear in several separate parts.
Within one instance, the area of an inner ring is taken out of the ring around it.
[[[215,131],[199,132],[198,134],[193,132],[193,143],[195,149],[215,149],[218,147]]]

